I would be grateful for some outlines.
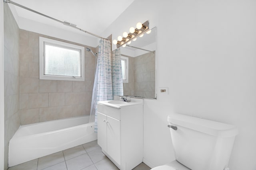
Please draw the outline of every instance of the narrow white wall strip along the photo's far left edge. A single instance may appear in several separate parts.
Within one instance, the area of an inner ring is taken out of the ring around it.
[[[0,169],[4,169],[4,2],[0,1]]]

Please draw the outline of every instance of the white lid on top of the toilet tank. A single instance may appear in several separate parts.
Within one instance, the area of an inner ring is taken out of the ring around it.
[[[168,115],[168,122],[218,137],[234,137],[238,134],[234,125],[177,113]]]

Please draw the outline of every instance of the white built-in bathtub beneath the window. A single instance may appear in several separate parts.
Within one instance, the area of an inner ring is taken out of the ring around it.
[[[97,139],[90,116],[22,125],[9,142],[8,165],[14,166]]]

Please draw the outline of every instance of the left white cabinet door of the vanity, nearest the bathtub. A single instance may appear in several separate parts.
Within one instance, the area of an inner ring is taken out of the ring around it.
[[[107,116],[98,113],[98,145],[107,152]]]

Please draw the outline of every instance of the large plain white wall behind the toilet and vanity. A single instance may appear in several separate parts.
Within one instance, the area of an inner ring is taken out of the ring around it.
[[[102,36],[146,20],[157,27],[156,88],[168,94],[144,101],[144,161],[174,159],[166,125],[176,112],[236,125],[230,169],[255,170],[256,1],[135,0]]]

